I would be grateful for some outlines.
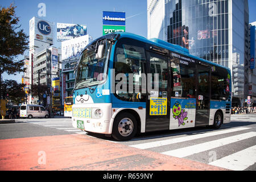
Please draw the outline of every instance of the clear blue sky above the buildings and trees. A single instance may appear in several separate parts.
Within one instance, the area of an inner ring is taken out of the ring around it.
[[[256,21],[256,1],[249,2],[249,22]],[[8,7],[11,3],[16,6],[16,16],[19,17],[20,28],[29,35],[29,21],[38,16],[39,3],[46,5],[46,16],[39,17],[55,23],[85,24],[87,33],[93,39],[102,36],[102,11],[118,11],[126,13],[126,32],[138,34],[147,38],[147,0],[0,0],[0,6]],[[55,47],[60,47],[56,42]],[[28,54],[28,53],[27,53]],[[23,59],[23,56],[18,56]],[[3,80],[16,80],[21,82],[23,73],[16,75],[3,74]]]

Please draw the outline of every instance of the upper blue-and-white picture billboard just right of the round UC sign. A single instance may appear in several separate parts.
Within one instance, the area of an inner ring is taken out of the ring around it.
[[[87,26],[82,24],[57,23],[57,41],[65,41],[87,34]]]

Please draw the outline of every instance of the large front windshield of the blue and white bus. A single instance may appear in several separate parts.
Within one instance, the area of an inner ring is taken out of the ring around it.
[[[105,80],[110,43],[105,41],[104,56],[101,59],[96,58],[96,46],[85,49],[81,55],[79,65],[77,67],[77,76],[75,89],[84,88],[90,85],[100,84]]]

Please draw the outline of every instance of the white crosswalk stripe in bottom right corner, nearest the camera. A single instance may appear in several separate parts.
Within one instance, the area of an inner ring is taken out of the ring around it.
[[[225,156],[209,164],[234,171],[243,171],[254,163],[256,163],[256,146]]]

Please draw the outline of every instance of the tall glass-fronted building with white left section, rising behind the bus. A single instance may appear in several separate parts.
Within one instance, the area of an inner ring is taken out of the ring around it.
[[[232,71],[232,104],[247,98],[249,61],[247,0],[147,0],[148,39],[178,44],[191,55]]]

